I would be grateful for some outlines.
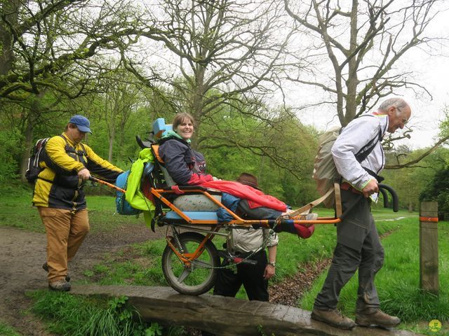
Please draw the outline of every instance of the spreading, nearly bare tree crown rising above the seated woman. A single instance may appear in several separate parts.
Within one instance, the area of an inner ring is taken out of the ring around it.
[[[160,1],[142,16],[147,27],[140,34],[159,52],[123,52],[123,62],[142,83],[168,85],[175,110],[191,113],[198,130],[223,109],[262,119],[262,94],[277,83],[289,38],[279,36],[281,9],[262,0]],[[147,34],[152,27],[160,29],[156,38]]]

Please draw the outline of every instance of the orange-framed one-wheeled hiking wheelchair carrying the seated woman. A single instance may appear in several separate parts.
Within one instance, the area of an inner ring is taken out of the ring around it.
[[[152,219],[152,230],[155,225],[167,228],[167,246],[162,255],[162,270],[168,284],[178,293],[201,295],[210,290],[214,286],[217,269],[220,268],[220,258],[227,258],[235,264],[255,262],[250,259],[250,256],[240,258],[232,251],[230,247],[233,246],[232,232],[236,228],[264,229],[274,228],[276,225],[336,224],[351,211],[349,207],[342,213],[340,205],[335,209],[335,217],[319,217],[315,221],[293,221],[283,217],[277,220],[244,220],[222,204],[222,193],[219,190],[200,186],[175,186],[159,156],[159,144],[157,144],[162,134],[171,130],[171,125],[166,125],[163,118],[159,118],[152,128],[152,137],[150,137],[152,139],[149,141],[142,141],[140,137],[136,137],[140,147],[151,148],[154,156],[154,163],[146,167],[146,173],[142,176],[141,188],[142,193],[156,208]],[[335,188],[337,190],[333,193],[338,199],[340,190],[337,183]],[[394,211],[397,211],[398,200],[394,190],[384,185],[380,185],[380,188],[384,196],[384,206],[388,206],[388,197],[385,192],[388,190],[394,201]],[[327,196],[324,195],[319,200],[305,205],[293,215],[311,211]],[[227,223],[219,223],[216,212],[219,208],[224,209],[233,219]],[[217,249],[213,244],[213,239],[217,236],[224,237],[226,240],[222,250]]]

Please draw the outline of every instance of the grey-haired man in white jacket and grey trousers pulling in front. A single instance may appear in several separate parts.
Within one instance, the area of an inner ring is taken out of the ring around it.
[[[382,268],[384,249],[370,213],[370,204],[377,198],[380,172],[385,157],[382,138],[385,132],[403,128],[410,118],[410,106],[401,98],[382,102],[377,112],[351,121],[335,141],[333,159],[342,176],[342,207],[356,203],[344,220],[337,224],[337,246],[333,253],[326,281],[316,296],[311,318],[337,328],[351,329],[357,325],[395,327],[401,320],[380,310],[374,284],[375,274]],[[373,148],[373,144],[375,144]],[[368,150],[368,151],[367,151]],[[366,155],[363,155],[363,152]],[[358,269],[356,321],[337,311],[340,290]]]

